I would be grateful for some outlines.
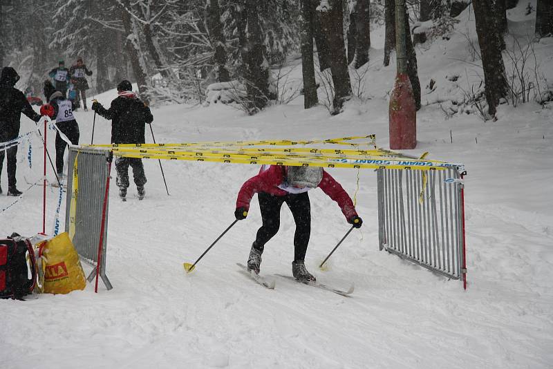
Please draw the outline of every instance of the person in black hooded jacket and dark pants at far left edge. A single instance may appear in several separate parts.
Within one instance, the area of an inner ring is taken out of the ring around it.
[[[21,195],[21,191],[15,187],[17,182],[15,179],[15,171],[17,169],[17,144],[5,149],[5,146],[1,146],[1,142],[8,142],[17,138],[21,126],[21,113],[24,113],[35,122],[40,120],[40,115],[32,110],[25,95],[14,87],[18,80],[19,75],[14,68],[6,66],[2,69],[0,75],[0,174],[2,173],[4,156],[7,152],[8,196]],[[2,193],[1,187],[0,193]]]

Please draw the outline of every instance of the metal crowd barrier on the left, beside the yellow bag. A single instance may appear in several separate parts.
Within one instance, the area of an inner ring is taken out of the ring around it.
[[[78,157],[77,152],[79,153]],[[102,207],[106,194],[106,180],[109,176],[107,166],[109,150],[83,148],[80,146],[70,147],[67,171],[66,231],[69,231],[71,227],[69,217],[71,193],[73,192],[73,164],[75,163],[75,157],[77,157],[78,193],[73,245],[75,245],[82,260],[94,267],[91,274],[86,278],[88,282],[91,282],[96,275],[98,245],[100,243],[100,230],[102,228]],[[107,203],[109,204],[109,201]],[[107,211],[108,209],[106,208],[106,214]],[[113,287],[105,272],[107,231],[108,216],[105,217],[100,277],[106,288],[111,290]]]

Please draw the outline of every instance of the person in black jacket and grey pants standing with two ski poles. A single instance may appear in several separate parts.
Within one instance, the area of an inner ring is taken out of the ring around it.
[[[117,86],[118,97],[111,102],[111,107],[106,110],[102,104],[93,102],[92,110],[111,120],[111,143],[113,144],[143,144],[145,124],[151,124],[153,115],[150,108],[146,106],[132,91],[131,82],[122,81]],[[122,200],[126,198],[126,189],[129,187],[129,165],[133,168],[133,177],[138,191],[138,198],[144,198],[144,184],[146,175],[144,166],[139,158],[115,159],[117,169],[117,185],[119,196]]]

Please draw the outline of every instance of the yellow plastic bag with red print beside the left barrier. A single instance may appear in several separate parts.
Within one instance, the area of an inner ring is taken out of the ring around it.
[[[40,245],[44,270],[44,293],[68,294],[84,290],[86,278],[79,254],[67,232],[59,234]]]

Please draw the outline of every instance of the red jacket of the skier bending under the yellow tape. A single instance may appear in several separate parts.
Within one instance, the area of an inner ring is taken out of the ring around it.
[[[270,193],[274,196],[285,196],[288,192],[283,189],[279,189],[279,185],[284,180],[284,168],[277,165],[271,165],[271,167],[244,182],[242,188],[238,192],[238,198],[236,199],[236,208],[245,207],[246,211],[250,209],[250,201],[256,192]],[[341,209],[341,212],[346,216],[346,220],[351,219],[353,216],[357,216],[355,206],[348,193],[341,187],[341,185],[330,174],[323,171],[323,179],[319,183],[319,188],[328,195],[329,198],[335,200]]]

